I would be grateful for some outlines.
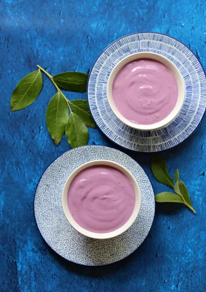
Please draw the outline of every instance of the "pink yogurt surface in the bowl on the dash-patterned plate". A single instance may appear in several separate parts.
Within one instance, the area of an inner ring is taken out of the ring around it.
[[[112,96],[117,110],[129,121],[151,125],[174,109],[178,86],[174,74],[161,62],[134,60],[114,78]]]

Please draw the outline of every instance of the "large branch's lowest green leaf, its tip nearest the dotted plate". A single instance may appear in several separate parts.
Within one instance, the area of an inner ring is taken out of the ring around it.
[[[67,141],[72,148],[87,145],[89,132],[82,119],[73,111],[66,126]]]

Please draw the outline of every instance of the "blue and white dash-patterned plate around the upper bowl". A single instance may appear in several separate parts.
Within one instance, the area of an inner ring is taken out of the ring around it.
[[[137,52],[166,56],[182,73],[186,99],[177,118],[166,128],[139,131],[123,124],[107,101],[108,77],[124,57]],[[158,33],[138,33],[114,41],[99,55],[88,81],[88,101],[97,126],[114,143],[127,149],[156,152],[182,143],[200,125],[206,111],[206,75],[197,57],[173,37]]]

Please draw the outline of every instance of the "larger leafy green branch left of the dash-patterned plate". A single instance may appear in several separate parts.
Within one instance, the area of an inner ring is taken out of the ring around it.
[[[47,128],[55,144],[58,145],[66,133],[67,141],[72,148],[87,145],[89,141],[87,127],[96,128],[88,102],[84,99],[69,101],[60,88],[67,91],[85,92],[88,74],[65,72],[52,76],[39,65],[37,67],[38,70],[23,77],[13,91],[11,110],[22,110],[37,99],[42,89],[41,72],[43,72],[57,90],[46,110]]]

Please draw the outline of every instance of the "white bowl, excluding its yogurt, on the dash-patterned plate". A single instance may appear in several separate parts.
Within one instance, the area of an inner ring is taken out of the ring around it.
[[[156,61],[159,61],[163,63],[168,69],[174,74],[174,77],[177,81],[178,85],[178,98],[177,98],[177,103],[174,107],[174,109],[170,112],[170,114],[163,119],[160,122],[157,122],[155,124],[151,125],[137,125],[135,123],[132,123],[128,119],[126,119],[116,108],[113,97],[112,97],[112,85],[114,78],[116,74],[119,72],[119,70],[126,65],[127,63],[136,60],[136,59],[142,59],[142,58],[147,58],[147,59],[153,59]],[[142,53],[136,53],[129,55],[122,59],[119,63],[115,65],[113,68],[112,72],[110,73],[110,76],[107,81],[107,99],[109,102],[109,105],[113,111],[113,113],[116,115],[116,117],[122,121],[124,124],[128,125],[131,128],[135,128],[138,130],[154,130],[158,128],[163,128],[168,126],[174,119],[175,117],[179,114],[180,110],[182,109],[184,100],[185,100],[185,80],[180,73],[180,71],[177,69],[177,67],[166,57],[156,54],[156,53],[150,53],[150,52],[142,52]]]

